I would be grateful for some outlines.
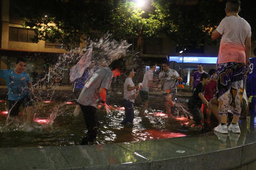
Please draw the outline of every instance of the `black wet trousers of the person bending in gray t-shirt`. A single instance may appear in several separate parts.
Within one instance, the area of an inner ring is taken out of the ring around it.
[[[79,103],[79,106],[83,112],[83,118],[87,127],[87,133],[83,137],[81,145],[88,145],[94,141],[97,137],[97,131],[99,129],[99,119],[97,109],[93,106],[83,106]]]

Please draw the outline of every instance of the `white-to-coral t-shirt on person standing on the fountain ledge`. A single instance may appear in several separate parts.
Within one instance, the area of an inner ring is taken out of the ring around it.
[[[245,40],[251,37],[250,24],[240,17],[229,16],[222,19],[216,29],[221,35],[218,63],[245,63]]]

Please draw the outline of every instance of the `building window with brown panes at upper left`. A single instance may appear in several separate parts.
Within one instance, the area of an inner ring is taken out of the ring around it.
[[[33,43],[31,38],[35,35],[33,30],[9,27],[9,41]]]

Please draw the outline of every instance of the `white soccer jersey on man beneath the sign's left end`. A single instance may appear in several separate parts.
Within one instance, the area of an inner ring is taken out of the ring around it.
[[[169,69],[167,72],[160,72],[159,79],[164,78],[164,93],[167,93],[166,90],[170,88],[171,83],[173,83],[174,79],[178,76],[178,72],[172,69]]]

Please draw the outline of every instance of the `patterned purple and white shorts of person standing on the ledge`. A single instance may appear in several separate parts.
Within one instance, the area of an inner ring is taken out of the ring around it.
[[[228,112],[240,116],[244,91],[244,72],[246,64],[227,62],[217,64],[217,98],[219,115],[227,116]]]

